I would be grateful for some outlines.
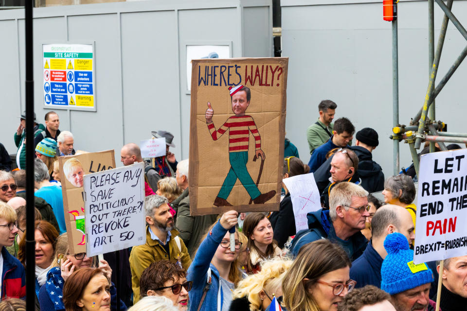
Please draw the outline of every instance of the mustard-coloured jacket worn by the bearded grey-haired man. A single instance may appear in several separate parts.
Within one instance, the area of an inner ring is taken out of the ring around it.
[[[133,289],[133,303],[140,300],[140,277],[144,269],[159,260],[179,261],[185,271],[191,264],[190,255],[185,243],[178,237],[177,230],[170,231],[169,254],[159,241],[151,239],[148,226],[146,226],[146,243],[133,247],[130,254],[131,287]],[[177,242],[178,240],[178,242]],[[180,243],[180,248],[178,243]]]

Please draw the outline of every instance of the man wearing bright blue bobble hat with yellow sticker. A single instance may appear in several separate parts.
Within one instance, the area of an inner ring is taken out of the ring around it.
[[[430,300],[433,273],[426,263],[413,262],[413,250],[400,233],[389,234],[384,240],[388,255],[381,265],[381,289],[391,295],[397,311],[433,311]]]

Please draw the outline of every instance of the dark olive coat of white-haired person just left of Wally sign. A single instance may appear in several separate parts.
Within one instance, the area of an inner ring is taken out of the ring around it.
[[[177,211],[175,228],[179,231],[180,238],[187,245],[188,253],[193,257],[201,242],[201,237],[216,222],[217,215],[191,216],[188,188],[171,203],[171,206]]]

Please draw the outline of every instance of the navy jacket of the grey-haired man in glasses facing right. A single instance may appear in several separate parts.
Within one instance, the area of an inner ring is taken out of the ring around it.
[[[350,250],[343,245],[343,241],[337,237],[336,231],[334,231],[334,226],[332,225],[329,217],[329,210],[319,209],[314,212],[309,212],[306,217],[308,218],[308,228],[315,230],[311,230],[305,235],[301,235],[300,233],[303,233],[303,231],[306,230],[300,230],[297,233],[292,241],[292,254],[294,257],[298,255],[302,246],[320,239],[328,239],[333,243],[341,245],[351,261],[357,259],[361,254],[363,254],[368,242],[363,234],[359,231],[349,238],[349,241],[352,242],[353,248],[353,251],[349,253]]]

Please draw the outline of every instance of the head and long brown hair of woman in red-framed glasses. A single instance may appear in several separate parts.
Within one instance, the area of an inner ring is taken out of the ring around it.
[[[337,244],[318,240],[302,247],[284,276],[282,293],[287,311],[337,311],[355,288],[350,259]]]

